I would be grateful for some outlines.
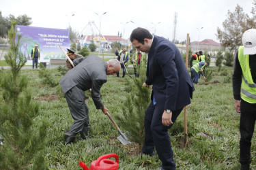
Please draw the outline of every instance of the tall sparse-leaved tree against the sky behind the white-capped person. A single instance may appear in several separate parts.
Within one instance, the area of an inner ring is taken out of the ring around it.
[[[230,48],[231,52],[236,52],[238,46],[242,45],[242,33],[247,28],[248,15],[245,14],[240,5],[236,6],[235,12],[227,12],[227,19],[223,22],[223,31],[217,28],[217,39],[225,48]]]

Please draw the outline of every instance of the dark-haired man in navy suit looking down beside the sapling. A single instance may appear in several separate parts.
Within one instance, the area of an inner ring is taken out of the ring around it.
[[[162,166],[175,169],[168,129],[184,106],[190,104],[193,82],[182,55],[171,41],[137,28],[130,35],[137,51],[147,52],[147,78],[143,86],[153,85],[152,102],[145,112],[145,143],[142,154],[154,155],[154,147]]]

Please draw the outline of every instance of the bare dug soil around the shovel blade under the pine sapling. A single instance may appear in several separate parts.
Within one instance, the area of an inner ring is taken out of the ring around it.
[[[117,137],[113,137],[113,138],[109,139],[109,144],[111,144],[117,148],[123,148],[124,150],[126,150],[126,152],[129,156],[138,156],[141,153],[141,148],[139,148],[138,143],[132,142],[132,143],[124,146],[124,145],[122,145],[121,142],[116,141],[114,139],[117,139]]]

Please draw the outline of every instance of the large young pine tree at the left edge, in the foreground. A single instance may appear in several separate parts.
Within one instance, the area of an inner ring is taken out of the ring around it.
[[[27,89],[27,78],[20,75],[25,65],[25,54],[20,52],[20,38],[17,35],[16,21],[8,31],[10,49],[5,61],[10,70],[2,71],[0,86],[3,104],[0,105],[0,136],[4,139],[0,146],[0,169],[46,169],[44,147],[46,123],[39,124],[38,131],[33,118],[39,114],[39,105],[31,99]],[[4,73],[3,73],[4,72]]]

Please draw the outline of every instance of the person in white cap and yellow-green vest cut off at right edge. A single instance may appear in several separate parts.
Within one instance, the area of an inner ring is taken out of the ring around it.
[[[250,169],[251,139],[256,120],[256,29],[244,32],[242,44],[236,53],[232,82],[236,112],[241,113],[241,169]]]

